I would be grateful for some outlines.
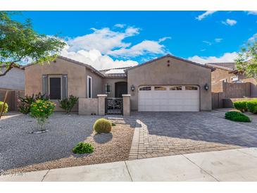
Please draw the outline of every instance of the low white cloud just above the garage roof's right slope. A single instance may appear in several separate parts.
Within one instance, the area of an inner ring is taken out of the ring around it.
[[[237,52],[225,53],[223,56],[215,57],[215,56],[192,56],[189,57],[189,61],[194,61],[196,63],[217,63],[217,62],[234,62],[237,58]]]

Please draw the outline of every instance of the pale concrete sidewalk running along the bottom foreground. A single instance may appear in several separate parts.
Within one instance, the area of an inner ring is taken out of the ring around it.
[[[2,175],[0,181],[257,181],[257,148]]]

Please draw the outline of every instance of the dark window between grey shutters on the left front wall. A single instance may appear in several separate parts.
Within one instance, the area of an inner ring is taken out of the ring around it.
[[[53,100],[61,100],[61,77],[49,76],[49,97]]]

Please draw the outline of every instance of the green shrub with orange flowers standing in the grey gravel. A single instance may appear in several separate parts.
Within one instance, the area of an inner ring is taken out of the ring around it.
[[[32,118],[37,118],[37,124],[39,124],[40,130],[43,130],[46,119],[54,112],[54,106],[56,106],[56,104],[51,101],[39,99],[32,102],[30,106],[30,116],[32,116]]]

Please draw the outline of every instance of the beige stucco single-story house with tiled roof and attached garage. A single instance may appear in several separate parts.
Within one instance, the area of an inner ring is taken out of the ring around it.
[[[170,54],[130,68],[96,70],[63,56],[51,64],[23,68],[25,94],[43,92],[56,102],[70,94],[85,99],[128,94],[134,111],[211,110],[213,68]]]

